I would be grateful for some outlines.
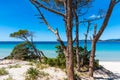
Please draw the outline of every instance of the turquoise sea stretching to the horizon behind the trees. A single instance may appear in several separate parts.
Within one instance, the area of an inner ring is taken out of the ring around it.
[[[8,56],[14,47],[21,42],[14,41],[1,41],[0,42],[0,59]],[[58,42],[34,42],[37,49],[42,50],[47,57],[54,58],[58,54],[56,53],[56,46]],[[65,43],[66,44],[66,43]],[[83,47],[84,42],[81,41],[79,44]],[[91,42],[87,43],[88,50],[91,50]],[[114,41],[100,41],[97,42],[96,47],[96,59],[100,61],[120,61],[120,42]]]

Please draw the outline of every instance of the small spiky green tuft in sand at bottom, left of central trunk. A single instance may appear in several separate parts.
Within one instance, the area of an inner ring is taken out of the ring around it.
[[[37,80],[39,73],[39,70],[31,67],[26,72],[25,80]]]

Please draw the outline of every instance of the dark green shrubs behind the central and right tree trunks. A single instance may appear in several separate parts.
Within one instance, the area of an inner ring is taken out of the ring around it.
[[[49,64],[50,66],[54,66],[54,67],[59,67],[59,68],[66,68],[66,59],[65,59],[65,55],[63,53],[63,50],[61,48],[61,46],[56,46],[57,50],[56,53],[58,54],[58,56],[56,58],[45,58],[44,59],[44,64]],[[74,52],[74,65],[76,66],[76,48],[73,48],[73,52]],[[79,56],[80,59],[84,59],[83,62],[83,68],[86,69],[86,67],[89,66],[89,58],[90,58],[90,53],[91,51],[87,51],[86,50],[86,54],[84,54],[84,48],[79,47]],[[97,68],[99,66],[98,60],[94,60],[94,66]],[[86,66],[86,67],[84,67]]]

